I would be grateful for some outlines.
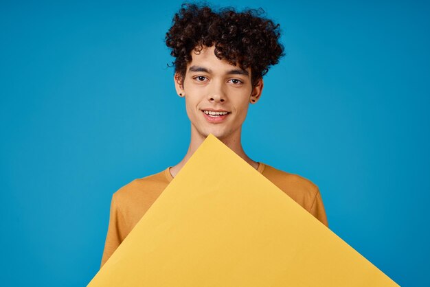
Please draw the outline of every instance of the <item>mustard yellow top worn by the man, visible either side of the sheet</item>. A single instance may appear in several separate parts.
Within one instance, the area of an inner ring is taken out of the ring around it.
[[[261,162],[258,165],[258,172],[328,227],[326,211],[317,185],[302,176],[277,170]],[[135,179],[113,194],[101,266],[120,246],[172,179],[169,167],[157,174]]]

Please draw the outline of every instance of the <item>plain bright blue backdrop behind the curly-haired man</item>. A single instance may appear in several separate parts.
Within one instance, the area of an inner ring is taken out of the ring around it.
[[[429,4],[234,4],[264,8],[286,48],[247,154],[317,184],[330,229],[398,284],[428,282]],[[86,285],[113,192],[185,155],[163,43],[179,5],[1,1],[2,286]]]

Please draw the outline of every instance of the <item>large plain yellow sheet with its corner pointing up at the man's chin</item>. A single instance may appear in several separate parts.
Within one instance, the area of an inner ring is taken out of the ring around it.
[[[210,135],[89,286],[398,285]]]

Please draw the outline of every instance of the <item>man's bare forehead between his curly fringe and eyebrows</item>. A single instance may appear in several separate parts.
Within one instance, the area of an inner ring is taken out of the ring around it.
[[[192,60],[188,63],[190,68],[194,65],[209,67],[212,70],[231,70],[231,69],[241,69],[239,65],[231,65],[227,60],[220,59],[215,56],[215,46],[206,47],[203,46],[201,51],[191,51]],[[245,71],[251,72],[251,68],[248,67]]]

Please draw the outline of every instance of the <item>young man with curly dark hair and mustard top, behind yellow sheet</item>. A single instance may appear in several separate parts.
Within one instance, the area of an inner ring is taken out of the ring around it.
[[[279,25],[259,13],[184,4],[175,14],[166,44],[175,57],[174,85],[191,122],[190,147],[177,165],[135,179],[113,194],[102,265],[210,133],[328,226],[315,184],[250,159],[240,143],[248,106],[262,94],[262,76],[284,50]]]

